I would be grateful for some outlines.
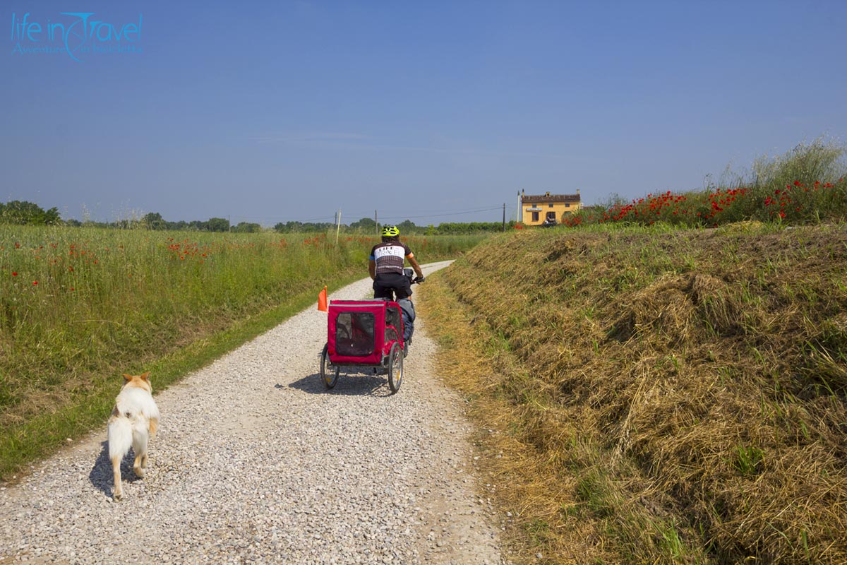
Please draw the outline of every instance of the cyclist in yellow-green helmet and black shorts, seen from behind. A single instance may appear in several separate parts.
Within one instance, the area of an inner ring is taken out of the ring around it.
[[[371,249],[368,272],[374,280],[374,298],[392,300],[396,294],[397,300],[412,296],[412,285],[403,274],[403,261],[409,260],[418,278],[415,282],[424,282],[424,271],[421,270],[414,253],[405,243],[400,241],[400,230],[396,225],[386,225],[382,229],[382,242]]]

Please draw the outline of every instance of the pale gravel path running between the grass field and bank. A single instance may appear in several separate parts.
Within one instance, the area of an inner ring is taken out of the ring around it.
[[[366,279],[330,299],[369,291]],[[104,422],[0,488],[0,563],[504,562],[426,322],[394,396],[382,375],[325,390],[326,314],[311,307],[189,375],[156,396],[147,478],[125,459],[120,502]]]

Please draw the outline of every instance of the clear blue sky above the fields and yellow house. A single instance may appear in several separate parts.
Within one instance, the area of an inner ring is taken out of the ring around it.
[[[844,2],[0,6],[0,202],[64,218],[497,221],[847,133]],[[50,42],[64,12],[136,53]]]

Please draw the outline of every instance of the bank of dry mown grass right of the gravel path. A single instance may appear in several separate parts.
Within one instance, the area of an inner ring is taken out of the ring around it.
[[[419,304],[545,562],[847,562],[847,228],[532,230]]]

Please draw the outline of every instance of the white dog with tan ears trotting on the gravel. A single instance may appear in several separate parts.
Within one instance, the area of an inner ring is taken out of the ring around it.
[[[147,440],[156,435],[158,407],[153,402],[150,373],[133,376],[124,374],[126,384],[114,401],[112,416],[108,418],[108,457],[114,471],[114,500],[124,496],[120,485],[120,462],[132,450],[136,461],[132,469],[138,477],[144,476],[147,467]]]

